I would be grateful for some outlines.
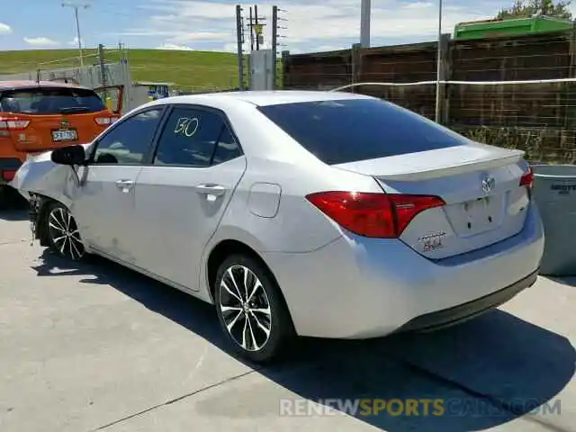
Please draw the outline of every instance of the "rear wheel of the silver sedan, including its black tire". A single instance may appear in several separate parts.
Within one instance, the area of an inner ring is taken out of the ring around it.
[[[257,363],[278,358],[293,339],[293,323],[270,272],[252,257],[220,265],[214,290],[220,327],[240,356]]]

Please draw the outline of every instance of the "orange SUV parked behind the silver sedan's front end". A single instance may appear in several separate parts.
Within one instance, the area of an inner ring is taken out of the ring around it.
[[[119,89],[117,109],[98,91]],[[0,196],[28,154],[85,144],[120,117],[121,86],[90,89],[57,82],[0,81]]]

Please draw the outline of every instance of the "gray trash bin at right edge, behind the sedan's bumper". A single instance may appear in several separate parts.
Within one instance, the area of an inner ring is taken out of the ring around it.
[[[544,223],[541,275],[576,275],[576,165],[534,165],[534,199]]]

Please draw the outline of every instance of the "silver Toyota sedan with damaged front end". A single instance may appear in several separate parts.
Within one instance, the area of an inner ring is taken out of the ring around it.
[[[295,336],[470,319],[534,284],[544,234],[519,150],[359,94],[177,96],[13,185],[40,244],[97,254],[215,305],[257,362]]]

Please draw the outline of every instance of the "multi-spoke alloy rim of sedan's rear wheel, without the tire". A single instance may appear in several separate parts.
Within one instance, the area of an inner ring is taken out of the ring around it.
[[[266,346],[272,311],[264,285],[247,266],[230,266],[220,281],[219,308],[229,336],[246,351]]]

